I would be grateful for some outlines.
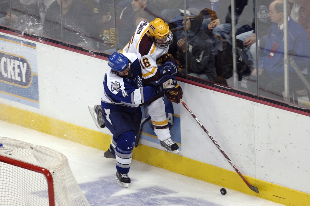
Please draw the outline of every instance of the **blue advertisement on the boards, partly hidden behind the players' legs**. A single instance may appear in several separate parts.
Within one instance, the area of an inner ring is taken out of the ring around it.
[[[175,141],[175,143],[179,145],[179,151],[182,151],[180,104],[172,103],[171,101],[167,100],[167,97],[164,99],[164,102],[171,139],[173,139],[173,141]],[[141,107],[141,110],[142,117],[145,117],[148,114],[148,106],[145,104]],[[151,119],[145,122],[141,127],[140,138],[160,145],[159,139],[157,139],[157,135],[154,132],[154,127]]]

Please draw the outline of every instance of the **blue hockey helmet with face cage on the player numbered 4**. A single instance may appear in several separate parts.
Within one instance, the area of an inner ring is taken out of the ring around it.
[[[110,55],[108,58],[108,65],[111,68],[111,71],[114,74],[119,75],[123,78],[131,77],[133,74],[132,68],[131,68],[131,61],[125,57],[124,54],[113,52],[113,54]],[[128,74],[127,75],[120,75],[119,73],[124,71],[129,66]]]

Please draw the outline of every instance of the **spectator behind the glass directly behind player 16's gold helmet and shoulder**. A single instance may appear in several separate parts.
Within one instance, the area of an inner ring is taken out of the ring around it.
[[[147,0],[131,0],[131,7],[133,9],[133,12],[127,16],[126,28],[121,35],[119,44],[117,45],[117,49],[119,49],[119,52],[126,46],[126,44],[130,41],[132,34],[135,32],[136,26],[134,17],[138,12],[147,12],[149,15],[149,19],[152,20],[158,16],[156,14],[157,10],[151,6],[148,6]]]

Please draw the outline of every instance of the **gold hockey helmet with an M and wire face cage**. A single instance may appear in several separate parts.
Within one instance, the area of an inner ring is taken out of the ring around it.
[[[155,45],[160,48],[168,47],[173,41],[172,32],[170,32],[168,24],[162,19],[156,18],[151,21],[148,32],[152,36]]]

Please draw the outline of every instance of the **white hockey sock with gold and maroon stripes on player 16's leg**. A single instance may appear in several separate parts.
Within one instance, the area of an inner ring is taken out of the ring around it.
[[[148,106],[155,134],[161,141],[171,137],[165,112],[165,103],[162,98],[157,99]]]

